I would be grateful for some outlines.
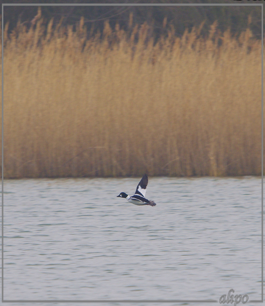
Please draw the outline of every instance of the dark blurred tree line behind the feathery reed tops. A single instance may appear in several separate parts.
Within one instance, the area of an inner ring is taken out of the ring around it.
[[[1,1],[10,3],[10,1]],[[198,27],[202,22],[201,35],[206,35],[210,25],[218,21],[218,29],[223,32],[230,28],[234,35],[240,34],[242,30],[250,27],[254,37],[261,37],[261,7],[260,6],[74,6],[76,3],[130,3],[128,0],[15,0],[12,3],[72,3],[73,6],[42,6],[41,12],[44,22],[48,23],[54,19],[54,25],[60,21],[62,25],[77,24],[80,17],[84,17],[87,29],[103,29],[104,21],[109,20],[112,28],[119,24],[124,30],[129,28],[129,16],[132,13],[132,27],[135,24],[147,22],[151,28],[152,35],[158,37],[164,34],[171,25],[175,28],[175,34],[180,36],[184,30]],[[134,3],[250,3],[247,0],[136,0]],[[257,2],[252,2],[257,3]],[[9,32],[16,27],[18,20],[31,26],[34,17],[38,13],[37,6],[4,6],[4,24],[9,22]],[[249,16],[251,23],[249,24]],[[166,23],[163,21],[166,17]]]

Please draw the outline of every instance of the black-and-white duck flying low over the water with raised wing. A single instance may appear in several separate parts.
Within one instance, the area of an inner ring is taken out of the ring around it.
[[[135,204],[135,205],[150,205],[156,206],[154,201],[149,201],[145,198],[146,187],[148,184],[148,177],[147,174],[144,174],[141,181],[136,187],[136,192],[133,196],[128,196],[125,192],[121,192],[118,197],[125,198],[128,202]]]

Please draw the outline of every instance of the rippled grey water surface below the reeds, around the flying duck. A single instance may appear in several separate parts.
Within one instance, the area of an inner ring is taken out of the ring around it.
[[[260,178],[139,180],[5,180],[4,299],[261,298]]]

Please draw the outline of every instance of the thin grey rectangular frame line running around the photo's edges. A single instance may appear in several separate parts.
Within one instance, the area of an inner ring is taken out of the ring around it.
[[[2,302],[4,303],[213,303],[217,300],[4,300],[4,6],[261,6],[261,300],[263,303],[263,3],[2,3]]]

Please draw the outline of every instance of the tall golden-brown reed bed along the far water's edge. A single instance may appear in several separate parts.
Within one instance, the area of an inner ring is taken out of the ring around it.
[[[261,42],[40,19],[4,35],[4,177],[261,175]]]

